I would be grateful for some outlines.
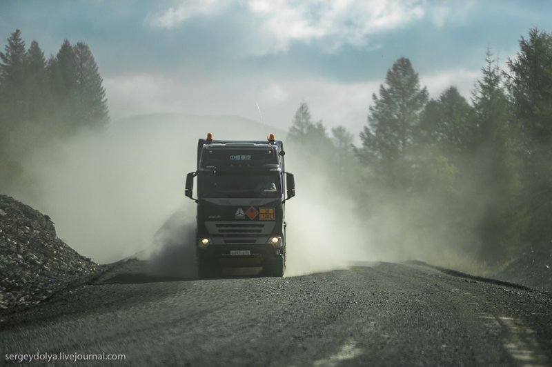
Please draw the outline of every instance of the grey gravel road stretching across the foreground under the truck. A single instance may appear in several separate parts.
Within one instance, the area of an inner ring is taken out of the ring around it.
[[[3,317],[0,364],[40,352],[126,355],[66,366],[552,365],[550,293],[420,264],[117,279]]]

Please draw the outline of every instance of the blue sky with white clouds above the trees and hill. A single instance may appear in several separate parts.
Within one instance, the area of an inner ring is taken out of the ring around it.
[[[488,48],[505,67],[550,19],[544,0],[2,0],[0,47],[16,28],[47,57],[87,43],[113,123],[179,112],[288,129],[306,102],[358,135],[398,58],[431,97],[457,86],[469,99]]]

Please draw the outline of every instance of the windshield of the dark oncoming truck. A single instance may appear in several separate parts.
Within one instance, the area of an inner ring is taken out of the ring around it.
[[[280,197],[277,172],[216,172],[204,176],[204,197]]]

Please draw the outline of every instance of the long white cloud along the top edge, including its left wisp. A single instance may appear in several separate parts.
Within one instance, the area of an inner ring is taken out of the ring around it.
[[[319,41],[328,52],[344,45],[371,46],[378,34],[406,28],[425,17],[442,26],[460,6],[445,3],[434,7],[426,0],[186,0],[164,12],[148,14],[146,23],[170,29],[193,17],[229,8],[236,11],[231,15],[240,17],[241,24],[251,27],[250,37],[263,43],[257,50],[265,54],[285,52],[297,41]],[[230,16],[230,12],[224,14]]]

